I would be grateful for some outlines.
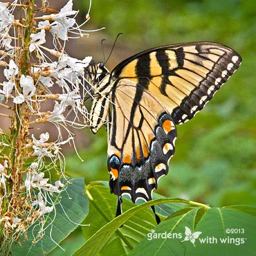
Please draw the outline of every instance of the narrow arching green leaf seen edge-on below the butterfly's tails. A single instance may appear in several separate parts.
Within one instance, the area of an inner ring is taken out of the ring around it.
[[[192,201],[187,201],[183,199],[170,199],[170,198],[164,198],[164,199],[156,199],[152,201],[148,201],[147,203],[143,203],[141,205],[137,205],[136,207],[133,207],[129,210],[127,210],[125,213],[121,214],[120,216],[114,218],[114,220],[110,221],[108,224],[103,226],[100,230],[98,230],[79,250],[76,251],[73,255],[96,255],[102,247],[108,242],[110,237],[114,234],[114,232],[118,232],[118,228],[127,220],[129,220],[130,217],[132,217],[135,213],[138,213],[142,209],[145,209],[147,207],[150,207],[152,205],[156,204],[163,204],[163,203],[185,203],[185,204],[193,204],[193,205],[201,205],[199,203],[195,203]],[[143,218],[143,216],[141,216]],[[133,236],[133,233],[131,233]]]

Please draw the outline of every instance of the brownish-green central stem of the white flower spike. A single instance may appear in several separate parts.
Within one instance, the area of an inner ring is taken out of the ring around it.
[[[16,63],[21,68],[21,73],[27,75],[30,72],[29,67],[29,55],[28,44],[30,42],[31,30],[34,24],[34,0],[27,0],[27,26],[23,28],[25,30],[25,38],[23,42],[23,51],[22,56],[17,57]],[[19,59],[18,59],[19,58]],[[16,86],[21,92],[19,80],[16,79]],[[7,197],[3,198],[3,210],[1,215],[7,214],[9,217],[13,218],[17,214],[19,217],[22,216],[22,206],[19,206],[19,189],[23,183],[22,174],[20,172],[23,170],[23,166],[27,157],[26,148],[23,149],[24,145],[28,141],[28,106],[26,104],[16,104],[15,113],[11,117],[11,126],[10,126],[10,155],[9,155],[9,168],[7,168],[7,175],[11,175],[11,178],[6,182],[6,193]],[[14,210],[15,209],[15,210]],[[2,235],[0,237],[0,243],[5,240],[7,241],[12,234],[6,234],[4,228],[2,229]],[[5,237],[3,237],[5,236]]]

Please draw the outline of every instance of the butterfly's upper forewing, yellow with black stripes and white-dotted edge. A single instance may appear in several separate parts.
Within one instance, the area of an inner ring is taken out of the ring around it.
[[[241,56],[217,43],[163,46],[122,61],[112,75],[133,80],[166,106],[180,124],[204,108],[241,64]]]

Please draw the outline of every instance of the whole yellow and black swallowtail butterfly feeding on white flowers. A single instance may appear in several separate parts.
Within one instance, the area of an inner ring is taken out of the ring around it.
[[[122,195],[133,202],[152,200],[174,155],[176,125],[203,109],[241,60],[222,44],[192,42],[148,49],[112,72],[103,63],[90,65],[90,125],[96,133],[107,123],[109,185],[118,196],[117,215]]]

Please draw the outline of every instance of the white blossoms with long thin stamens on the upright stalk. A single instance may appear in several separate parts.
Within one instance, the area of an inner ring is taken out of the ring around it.
[[[85,68],[90,64],[92,57],[83,56],[79,60],[65,52],[68,39],[88,35],[88,31],[82,30],[81,26],[88,22],[89,13],[85,22],[78,25],[75,19],[78,11],[72,10],[72,0],[59,12],[43,16],[36,16],[36,13],[34,22],[38,23],[32,29],[30,42],[27,44],[28,55],[31,56],[27,61],[30,61],[30,64],[24,72],[24,67],[19,62],[23,44],[20,43],[17,27],[25,30],[26,23],[24,25],[23,22],[26,19],[15,19],[15,6],[21,6],[23,13],[26,13],[26,5],[18,4],[18,0],[11,4],[0,2],[0,66],[4,67],[5,76],[5,81],[0,82],[0,110],[4,105],[7,108],[11,105],[15,111],[20,106],[28,106],[30,126],[50,122],[59,133],[54,142],[49,141],[48,132],[40,134],[39,139],[32,134],[24,147],[30,152],[27,159],[32,158],[34,162],[24,170],[27,176],[23,187],[32,208],[40,217],[54,209],[51,202],[53,193],[60,193],[65,189],[61,181],[51,184],[50,180],[44,177],[46,170],[60,166],[59,174],[65,180],[65,158],[61,153],[61,146],[73,144],[75,147],[73,133],[69,128],[86,127],[89,120],[88,110],[84,106],[84,100],[89,94]],[[42,10],[44,11],[43,8]],[[47,33],[50,34],[49,38],[52,38],[52,49],[46,47]],[[49,101],[52,104],[47,104]],[[51,109],[42,112],[42,104]],[[64,138],[63,130],[67,132],[67,138]],[[11,177],[7,175],[10,174],[8,168],[10,167],[7,160],[0,163],[0,187],[3,187],[5,194],[6,180]],[[3,197],[0,197],[0,208],[2,200]],[[1,221],[3,219],[0,219],[0,223]],[[21,221],[15,216],[11,220],[12,227],[18,226]]]

